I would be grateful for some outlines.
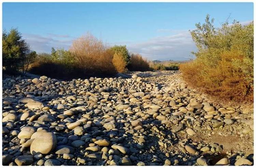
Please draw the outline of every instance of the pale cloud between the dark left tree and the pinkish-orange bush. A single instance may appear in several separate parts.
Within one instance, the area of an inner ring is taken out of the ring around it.
[[[47,36],[38,34],[23,34],[23,37],[30,45],[30,48],[38,53],[50,52],[52,47],[68,49],[73,41],[73,39],[68,35],[48,34],[49,35]]]

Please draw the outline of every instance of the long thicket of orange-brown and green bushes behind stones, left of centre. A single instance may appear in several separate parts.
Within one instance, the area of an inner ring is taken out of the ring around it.
[[[149,70],[148,62],[139,54],[129,54],[126,46],[108,47],[90,33],[74,40],[70,49],[52,49],[40,54],[31,72],[54,78],[104,76],[117,72]]]

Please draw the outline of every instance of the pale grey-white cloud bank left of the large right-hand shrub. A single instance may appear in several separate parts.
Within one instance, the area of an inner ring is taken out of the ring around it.
[[[192,55],[191,51],[196,51],[196,46],[188,31],[129,44],[127,48],[131,52],[140,53],[149,60],[188,60]]]

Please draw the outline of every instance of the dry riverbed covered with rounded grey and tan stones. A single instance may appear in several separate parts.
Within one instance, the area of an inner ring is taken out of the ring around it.
[[[3,79],[3,165],[253,165],[253,109],[178,71]]]

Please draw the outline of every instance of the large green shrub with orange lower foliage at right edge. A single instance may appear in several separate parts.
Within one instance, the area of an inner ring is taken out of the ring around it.
[[[208,15],[205,24],[196,27],[191,31],[196,60],[180,66],[183,78],[223,99],[253,101],[253,22],[225,22],[214,28]]]

